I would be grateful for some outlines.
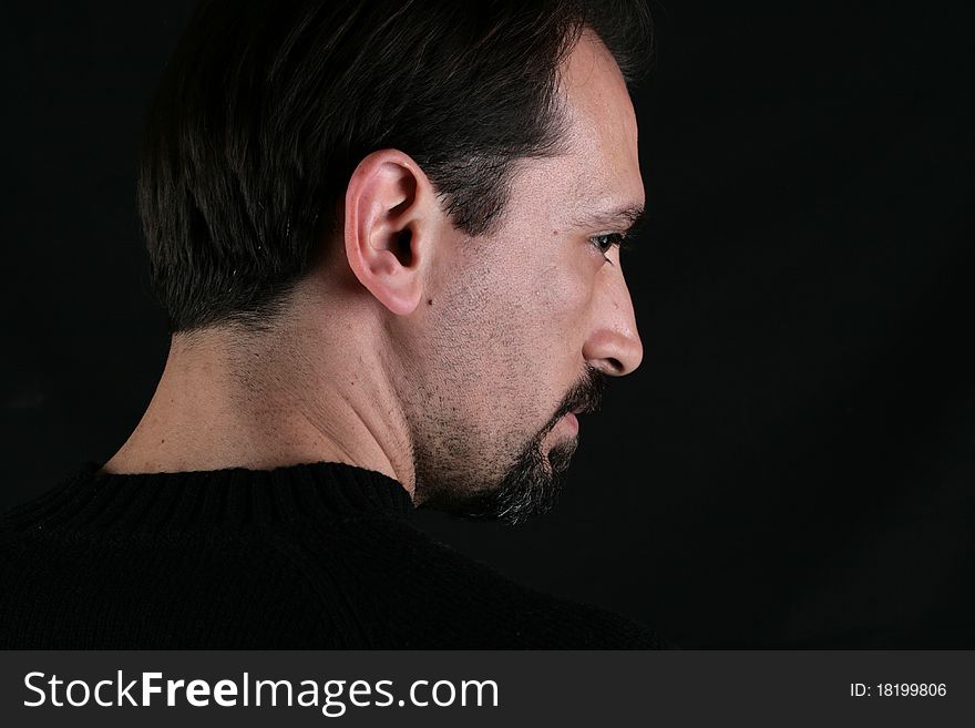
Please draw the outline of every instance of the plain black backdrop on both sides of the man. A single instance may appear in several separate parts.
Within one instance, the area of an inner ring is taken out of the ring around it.
[[[2,510],[107,460],[162,372],[134,170],[191,8],[4,6]],[[656,2],[644,365],[552,514],[423,526],[685,647],[975,647],[966,8]]]

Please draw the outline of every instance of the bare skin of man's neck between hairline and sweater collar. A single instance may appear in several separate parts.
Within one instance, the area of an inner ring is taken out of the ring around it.
[[[342,462],[398,480],[412,494],[407,429],[390,417],[396,400],[380,372],[352,362],[340,342],[314,356],[296,349],[318,337],[240,338],[217,330],[175,336],[145,414],[103,471]]]

